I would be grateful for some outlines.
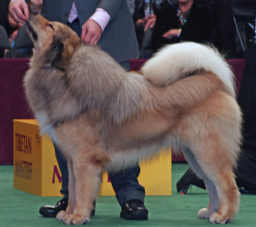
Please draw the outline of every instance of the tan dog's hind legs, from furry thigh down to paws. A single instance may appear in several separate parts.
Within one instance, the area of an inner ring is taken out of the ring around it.
[[[224,224],[239,211],[240,193],[233,168],[240,152],[241,111],[236,100],[218,91],[190,110],[178,126],[191,167],[206,182],[210,202],[200,218]]]

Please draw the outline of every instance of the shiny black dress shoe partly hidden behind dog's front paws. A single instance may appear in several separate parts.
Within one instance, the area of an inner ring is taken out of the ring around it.
[[[55,206],[46,205],[39,209],[39,213],[42,214],[46,218],[55,218],[57,213],[60,211],[66,211],[68,200],[62,199],[58,201]],[[94,207],[96,206],[96,202],[94,201]],[[90,216],[95,215],[95,208],[90,211]]]

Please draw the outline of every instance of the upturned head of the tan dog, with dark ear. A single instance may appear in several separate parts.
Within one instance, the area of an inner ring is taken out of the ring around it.
[[[30,14],[26,28],[34,44],[33,56],[45,52],[52,66],[65,70],[74,49],[81,43],[77,33],[62,23],[44,19],[37,12]]]

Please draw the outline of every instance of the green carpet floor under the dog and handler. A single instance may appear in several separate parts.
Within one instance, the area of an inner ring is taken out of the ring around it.
[[[207,207],[206,190],[195,186],[188,194],[177,194],[176,183],[188,169],[187,164],[172,165],[172,196],[146,196],[147,221],[119,218],[120,207],[114,196],[102,196],[96,201],[96,216],[90,226],[211,226],[209,220],[197,218],[202,207]],[[61,197],[40,197],[13,188],[13,166],[0,166],[0,226],[51,227],[65,226],[55,218],[43,218],[39,207],[55,204]],[[146,189],[147,190],[147,189]],[[241,195],[240,213],[228,226],[255,226],[256,196]]]

